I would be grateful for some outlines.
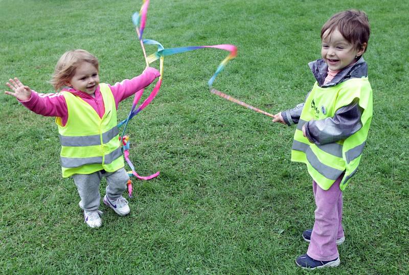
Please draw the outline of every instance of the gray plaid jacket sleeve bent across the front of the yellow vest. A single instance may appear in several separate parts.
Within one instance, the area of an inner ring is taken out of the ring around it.
[[[327,144],[345,140],[361,127],[363,109],[357,100],[335,111],[334,117],[312,120],[305,124],[305,134],[311,143]]]

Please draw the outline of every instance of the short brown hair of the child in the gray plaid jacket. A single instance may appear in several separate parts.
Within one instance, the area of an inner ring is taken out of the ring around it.
[[[360,49],[363,43],[367,43],[368,47],[371,27],[365,12],[346,10],[332,15],[321,29],[321,39],[323,39],[324,34],[328,36],[335,30],[338,30],[348,42],[354,44],[356,49]],[[326,33],[327,31],[328,33]],[[365,51],[367,47],[365,47]]]

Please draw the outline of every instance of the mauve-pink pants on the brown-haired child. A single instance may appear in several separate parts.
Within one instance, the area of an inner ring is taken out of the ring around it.
[[[315,198],[315,222],[307,255],[314,260],[330,261],[338,258],[336,239],[344,237],[342,227],[342,191],[339,183],[344,175],[335,180],[327,191],[312,181]]]

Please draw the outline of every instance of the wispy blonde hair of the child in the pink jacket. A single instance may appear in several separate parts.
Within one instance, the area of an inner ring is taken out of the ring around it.
[[[75,75],[76,68],[82,62],[88,62],[94,65],[99,72],[98,58],[94,55],[81,49],[65,52],[58,60],[53,77],[50,81],[55,90],[59,90],[61,87],[65,86],[67,82],[71,81]]]

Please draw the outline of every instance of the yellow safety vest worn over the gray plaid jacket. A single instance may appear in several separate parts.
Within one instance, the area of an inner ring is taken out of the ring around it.
[[[316,145],[303,136],[302,127],[307,121],[334,117],[335,111],[359,99],[363,108],[362,127],[334,143]],[[372,88],[368,78],[352,78],[332,87],[322,88],[315,82],[301,112],[291,148],[291,161],[302,162],[315,182],[328,190],[342,175],[339,188],[344,191],[356,173],[372,120]]]

